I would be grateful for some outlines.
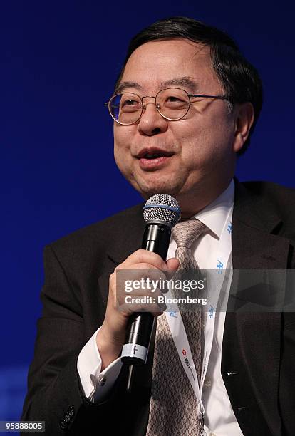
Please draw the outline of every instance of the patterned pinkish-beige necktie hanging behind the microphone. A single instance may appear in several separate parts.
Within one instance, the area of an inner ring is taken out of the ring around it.
[[[180,266],[173,279],[185,271],[199,269],[190,247],[207,227],[197,219],[180,222],[172,229]],[[179,315],[179,313],[178,313]],[[182,313],[182,321],[190,343],[192,358],[200,380],[201,372],[201,312]],[[190,381],[182,368],[165,313],[157,318],[155,354],[152,368],[152,394],[147,436],[199,436],[197,400]]]

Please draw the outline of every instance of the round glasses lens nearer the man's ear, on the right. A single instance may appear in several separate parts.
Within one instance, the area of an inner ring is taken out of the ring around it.
[[[180,120],[190,107],[190,98],[185,90],[167,88],[157,94],[157,108],[169,120]]]

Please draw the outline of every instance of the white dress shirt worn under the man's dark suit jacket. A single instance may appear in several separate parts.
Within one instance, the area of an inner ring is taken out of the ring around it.
[[[209,229],[207,233],[192,244],[192,253],[200,269],[216,269],[219,238],[222,235],[227,215],[233,203],[234,182],[232,181],[229,187],[214,202],[195,215]],[[175,257],[175,250],[176,242],[171,238],[167,259]],[[227,268],[232,269],[231,256]],[[227,288],[227,296],[229,286],[230,283]],[[205,407],[205,432],[208,436],[242,436],[242,431],[234,416],[221,374],[224,321],[225,312],[217,311],[212,351],[202,390],[202,403]],[[96,346],[97,333],[98,331],[94,333],[83,347],[78,356],[77,363],[81,385],[86,398],[89,398],[94,403],[101,402],[108,397],[108,393],[113,387],[116,378],[118,378],[122,366],[120,358],[118,358],[100,373],[101,358]]]

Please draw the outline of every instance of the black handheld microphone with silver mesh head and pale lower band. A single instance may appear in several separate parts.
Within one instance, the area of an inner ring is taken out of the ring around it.
[[[168,194],[153,195],[143,207],[143,219],[146,226],[141,248],[157,253],[166,260],[171,229],[180,219],[180,207],[176,199]],[[133,313],[129,318],[121,354],[121,361],[130,365],[128,390],[130,390],[133,365],[144,365],[147,361],[154,322],[155,316],[147,312]]]

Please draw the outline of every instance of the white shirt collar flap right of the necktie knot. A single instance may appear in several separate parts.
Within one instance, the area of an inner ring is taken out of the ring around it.
[[[214,202],[195,214],[195,218],[205,224],[220,239],[225,220],[233,204],[234,180],[229,183],[227,189],[217,199],[214,199]]]

